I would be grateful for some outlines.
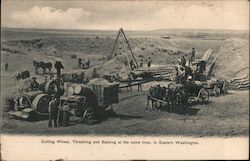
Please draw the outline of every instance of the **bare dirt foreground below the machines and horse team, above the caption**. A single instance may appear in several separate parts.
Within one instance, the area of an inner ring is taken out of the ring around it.
[[[123,91],[113,115],[87,125],[75,122],[69,127],[48,128],[47,120],[27,122],[4,114],[3,132],[34,135],[180,135],[248,136],[249,91],[231,91],[226,96],[211,97],[208,104],[190,106],[181,115],[146,109],[145,92]]]

